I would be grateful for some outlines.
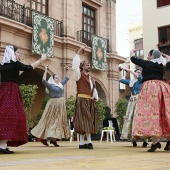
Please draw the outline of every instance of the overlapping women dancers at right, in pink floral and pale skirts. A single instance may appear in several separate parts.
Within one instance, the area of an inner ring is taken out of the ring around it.
[[[131,61],[142,68],[142,75],[136,71],[132,72],[134,80],[120,80],[129,84],[131,89],[121,138],[132,139],[134,147],[137,146],[136,139],[143,139],[143,147],[147,147],[147,139],[151,138],[152,145],[148,152],[160,149],[159,140],[166,138],[164,150],[169,151],[170,85],[164,75],[170,69],[170,56],[159,50],[151,50],[147,60],[143,60],[135,57],[135,52],[132,50],[130,53]]]

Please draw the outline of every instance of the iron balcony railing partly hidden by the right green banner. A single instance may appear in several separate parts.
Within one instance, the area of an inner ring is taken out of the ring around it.
[[[87,46],[92,47],[92,33],[87,32],[85,30],[77,31],[77,41],[85,43]],[[111,52],[109,46],[109,39],[107,40],[107,52]]]

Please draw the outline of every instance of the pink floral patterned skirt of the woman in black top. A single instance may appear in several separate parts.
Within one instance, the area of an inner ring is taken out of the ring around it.
[[[134,117],[134,137],[170,138],[170,85],[144,82]]]

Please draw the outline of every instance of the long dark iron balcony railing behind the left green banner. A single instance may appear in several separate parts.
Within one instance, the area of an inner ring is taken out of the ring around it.
[[[33,10],[24,5],[15,3],[14,0],[0,0],[0,16],[26,24],[30,27],[32,27],[32,11]],[[63,22],[55,19],[53,20],[54,35],[63,37]]]

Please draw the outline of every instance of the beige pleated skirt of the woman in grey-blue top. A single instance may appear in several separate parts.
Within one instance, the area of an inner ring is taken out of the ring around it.
[[[63,97],[49,99],[40,121],[31,130],[31,133],[33,136],[41,139],[70,137],[66,105]]]

